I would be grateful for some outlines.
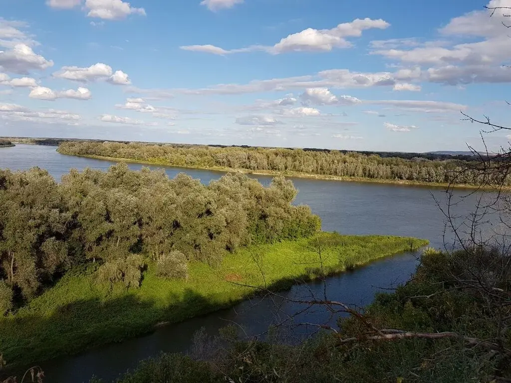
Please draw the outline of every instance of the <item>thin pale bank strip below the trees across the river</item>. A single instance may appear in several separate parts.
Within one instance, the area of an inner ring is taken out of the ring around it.
[[[57,150],[59,152],[59,150]],[[208,170],[213,172],[239,172],[244,174],[253,174],[260,176],[285,176],[291,178],[308,178],[308,179],[318,179],[318,180],[331,180],[331,181],[344,181],[344,182],[365,182],[365,183],[379,183],[379,184],[390,184],[390,185],[405,185],[405,186],[421,186],[421,187],[438,187],[438,188],[456,188],[456,189],[480,189],[480,190],[493,190],[492,186],[475,186],[468,184],[454,184],[450,185],[448,183],[438,183],[438,182],[418,182],[418,181],[408,181],[408,180],[387,180],[387,179],[378,179],[378,178],[364,178],[364,177],[340,177],[340,176],[329,176],[329,175],[317,175],[317,174],[306,174],[306,173],[297,173],[297,172],[276,172],[276,171],[252,171],[249,169],[241,169],[241,168],[231,168],[231,167],[222,167],[222,166],[211,166],[211,167],[201,167],[201,166],[185,166],[185,165],[173,165],[171,163],[165,161],[144,161],[144,160],[136,160],[129,158],[117,158],[117,157],[105,157],[105,156],[96,156],[96,155],[85,155],[85,154],[68,154],[61,153],[60,154],[66,156],[75,156],[75,157],[84,157],[84,158],[92,158],[92,159],[100,159],[106,161],[117,161],[117,162],[128,162],[128,163],[141,163],[146,165],[161,165],[161,166],[172,166],[178,167],[181,169],[197,169],[197,170]],[[511,190],[511,186],[503,186],[501,190]]]

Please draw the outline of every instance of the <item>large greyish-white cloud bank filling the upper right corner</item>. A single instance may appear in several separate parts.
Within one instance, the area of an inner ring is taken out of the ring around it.
[[[491,0],[487,7],[511,7],[510,0]],[[373,42],[371,54],[398,61],[403,66],[421,68],[422,81],[446,85],[511,82],[507,68],[509,37],[502,23],[509,21],[509,9],[473,11],[452,18],[439,32],[443,39],[410,44]],[[458,37],[478,41],[455,43]]]

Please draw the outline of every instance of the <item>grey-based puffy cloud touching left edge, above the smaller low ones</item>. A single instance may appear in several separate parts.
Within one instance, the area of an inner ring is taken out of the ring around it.
[[[29,70],[43,70],[50,66],[53,66],[52,60],[37,55],[26,44],[16,44],[10,50],[0,51],[0,68],[8,72],[25,75]]]

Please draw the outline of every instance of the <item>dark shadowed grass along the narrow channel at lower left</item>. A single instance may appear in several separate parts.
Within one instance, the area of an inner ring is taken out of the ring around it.
[[[57,356],[149,333],[156,323],[175,323],[222,308],[190,289],[171,299],[177,303],[162,308],[128,292],[108,301],[66,304],[48,318],[27,315],[0,319],[0,351],[7,361],[7,367],[0,370],[0,381],[21,376],[33,364]]]

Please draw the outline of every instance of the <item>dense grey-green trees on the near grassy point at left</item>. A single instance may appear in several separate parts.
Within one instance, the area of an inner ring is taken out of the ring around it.
[[[0,170],[0,315],[66,272],[94,266],[98,281],[140,286],[150,264],[163,278],[187,277],[189,261],[211,266],[240,246],[292,240],[320,230],[308,206],[291,204],[293,183],[264,187],[241,174],[203,185],[164,171]]]

